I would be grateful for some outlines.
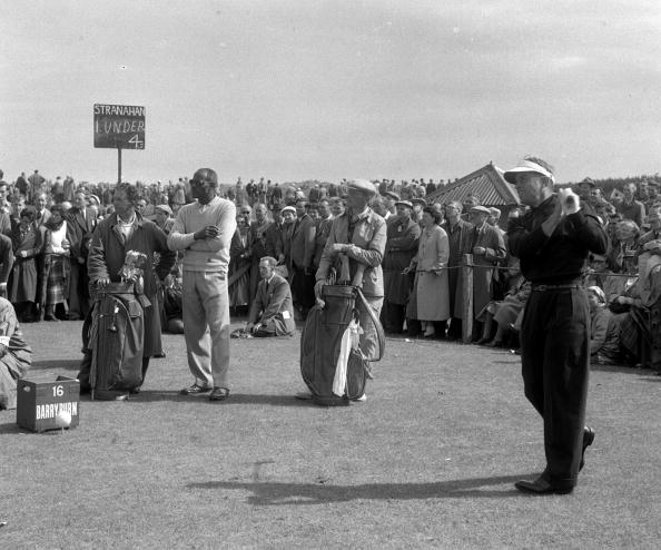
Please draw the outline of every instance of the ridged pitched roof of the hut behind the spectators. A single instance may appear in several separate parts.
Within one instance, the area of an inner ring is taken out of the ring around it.
[[[486,166],[447,184],[445,187],[427,195],[427,203],[464,203],[468,195],[480,197],[482,206],[495,206],[502,213],[501,225],[506,224],[507,213],[519,205],[516,188],[505,181],[504,170],[489,163]]]

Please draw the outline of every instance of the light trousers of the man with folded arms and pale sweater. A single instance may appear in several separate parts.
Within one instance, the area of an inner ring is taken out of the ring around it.
[[[182,287],[188,367],[197,384],[229,389],[227,275],[221,272],[184,271]]]

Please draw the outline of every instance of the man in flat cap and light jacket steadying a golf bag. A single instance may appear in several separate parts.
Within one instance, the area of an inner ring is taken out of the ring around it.
[[[376,194],[376,187],[367,179],[354,179],[347,185],[346,210],[333,220],[328,240],[322,254],[316,273],[315,294],[322,295],[331,267],[337,254],[346,254],[349,258],[352,281],[358,265],[365,266],[363,273],[363,294],[376,318],[383,306],[383,269],[381,263],[386,245],[386,223],[367,205]],[[361,350],[369,360],[376,356],[378,340],[369,315],[358,304],[361,326]]]

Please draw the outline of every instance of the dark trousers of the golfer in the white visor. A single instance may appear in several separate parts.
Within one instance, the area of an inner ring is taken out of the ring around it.
[[[583,288],[532,292],[521,327],[525,396],[544,420],[544,475],[576,483],[590,367],[590,306]]]

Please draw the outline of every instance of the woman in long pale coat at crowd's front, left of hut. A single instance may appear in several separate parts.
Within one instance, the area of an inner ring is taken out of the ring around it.
[[[434,322],[450,318],[447,234],[438,226],[441,215],[431,206],[423,209],[422,234],[417,254],[405,271],[415,269],[415,284],[410,307],[416,308],[413,318],[421,321],[424,337],[435,336]],[[407,313],[411,318],[411,315]]]

